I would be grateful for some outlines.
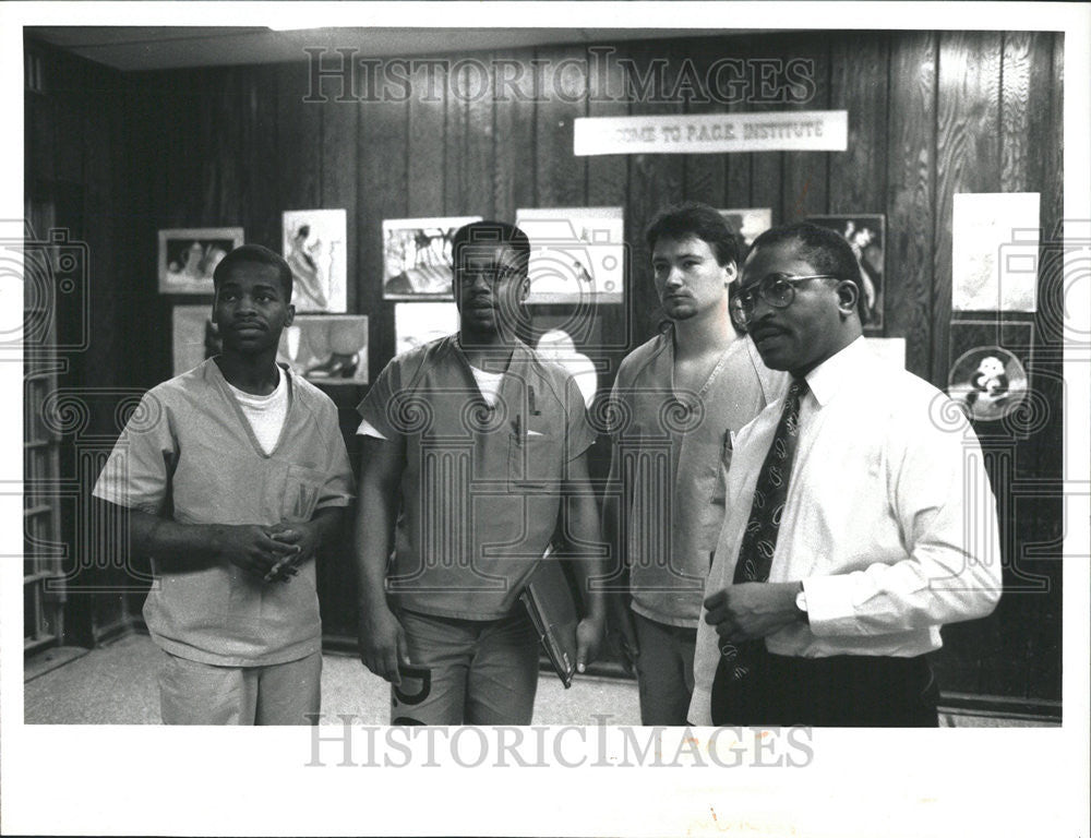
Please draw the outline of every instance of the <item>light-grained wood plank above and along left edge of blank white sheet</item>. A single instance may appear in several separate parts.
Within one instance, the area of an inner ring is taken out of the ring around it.
[[[957,192],[996,192],[1000,36],[939,35],[932,383],[945,386],[951,315],[951,216]]]

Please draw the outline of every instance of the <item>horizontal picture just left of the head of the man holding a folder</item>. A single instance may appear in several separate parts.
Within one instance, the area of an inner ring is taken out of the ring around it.
[[[383,222],[383,299],[453,300],[455,231],[481,216]]]

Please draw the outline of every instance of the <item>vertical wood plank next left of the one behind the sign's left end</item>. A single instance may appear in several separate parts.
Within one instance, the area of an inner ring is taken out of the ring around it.
[[[536,206],[536,98],[533,50],[506,52],[494,75],[495,120],[493,212],[515,222],[520,206]]]

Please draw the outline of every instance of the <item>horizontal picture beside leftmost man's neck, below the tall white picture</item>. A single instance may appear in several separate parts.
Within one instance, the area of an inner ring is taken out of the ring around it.
[[[368,318],[297,316],[280,333],[277,360],[315,384],[367,384]]]

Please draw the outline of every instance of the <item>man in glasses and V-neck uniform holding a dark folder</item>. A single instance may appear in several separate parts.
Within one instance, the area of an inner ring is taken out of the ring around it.
[[[601,642],[595,435],[572,376],[516,336],[529,254],[517,227],[461,227],[458,334],[394,358],[359,407],[360,657],[394,725],[530,723],[540,646],[518,595],[559,523],[580,560],[578,671]]]

